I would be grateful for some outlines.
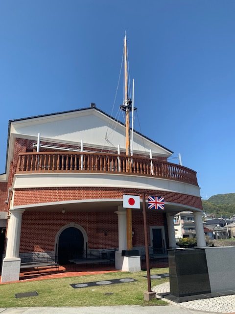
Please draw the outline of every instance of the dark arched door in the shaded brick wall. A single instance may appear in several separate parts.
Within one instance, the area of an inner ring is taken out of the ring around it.
[[[66,228],[59,236],[58,262],[69,264],[70,260],[83,258],[84,238],[82,232],[74,227]]]

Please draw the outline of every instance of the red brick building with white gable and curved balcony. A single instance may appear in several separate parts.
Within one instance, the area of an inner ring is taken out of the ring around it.
[[[147,211],[149,246],[158,254],[176,246],[173,216],[181,210],[194,212],[198,246],[205,245],[196,172],[167,162],[172,152],[136,131],[133,142],[129,167],[124,125],[96,107],[9,122],[6,173],[0,175],[2,281],[17,280],[21,258],[33,252],[67,263],[76,252],[116,249],[116,267],[132,270],[121,255],[123,194],[164,196],[164,210]],[[141,255],[141,209],[132,210],[132,233]]]

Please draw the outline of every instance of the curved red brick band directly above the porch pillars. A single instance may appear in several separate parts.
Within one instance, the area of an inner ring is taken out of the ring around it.
[[[28,188],[15,191],[14,206],[84,199],[122,198],[123,194],[140,195],[142,192],[164,196],[165,202],[173,202],[202,209],[200,197],[166,191],[137,190],[116,187],[58,187]]]

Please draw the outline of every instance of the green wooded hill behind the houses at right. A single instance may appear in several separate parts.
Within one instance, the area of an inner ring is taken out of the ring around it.
[[[202,200],[203,210],[216,217],[231,217],[235,214],[235,193],[217,194]]]

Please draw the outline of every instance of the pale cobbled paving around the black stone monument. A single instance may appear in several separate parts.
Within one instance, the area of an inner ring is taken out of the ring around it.
[[[164,283],[153,288],[153,291],[157,293],[170,292],[170,283]],[[216,298],[204,299],[204,300],[194,300],[182,303],[174,303],[167,299],[164,301],[174,304],[175,306],[197,310],[206,311],[212,313],[235,313],[235,295],[219,296]]]

